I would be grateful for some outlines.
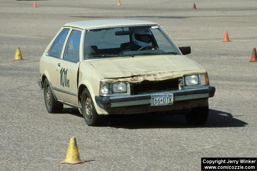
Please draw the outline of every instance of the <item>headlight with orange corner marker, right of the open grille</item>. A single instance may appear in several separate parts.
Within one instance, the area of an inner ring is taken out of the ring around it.
[[[186,75],[184,76],[185,86],[209,85],[208,74]]]

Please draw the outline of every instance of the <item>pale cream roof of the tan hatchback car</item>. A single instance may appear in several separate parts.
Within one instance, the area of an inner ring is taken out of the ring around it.
[[[100,28],[100,27],[115,27],[115,26],[133,26],[133,25],[156,25],[151,21],[143,20],[93,20],[93,21],[79,21],[73,23],[66,23],[63,25],[67,27],[76,27],[80,29]]]

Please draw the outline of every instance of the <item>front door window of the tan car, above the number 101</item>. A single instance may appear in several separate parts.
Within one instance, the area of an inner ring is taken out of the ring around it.
[[[80,61],[80,38],[81,31],[72,30],[64,50],[63,59],[66,59],[71,62]]]

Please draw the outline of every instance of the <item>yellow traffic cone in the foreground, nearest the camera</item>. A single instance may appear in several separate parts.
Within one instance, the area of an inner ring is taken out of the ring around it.
[[[61,161],[60,163],[66,163],[66,164],[86,163],[86,162],[80,160],[80,154],[79,154],[79,150],[78,150],[78,146],[77,146],[75,137],[70,137],[70,143],[68,146],[65,160]]]

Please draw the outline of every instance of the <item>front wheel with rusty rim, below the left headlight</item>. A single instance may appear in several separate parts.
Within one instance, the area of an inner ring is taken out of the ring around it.
[[[98,124],[99,115],[96,112],[92,97],[89,90],[85,88],[81,95],[81,106],[83,118],[88,126],[96,126]]]

